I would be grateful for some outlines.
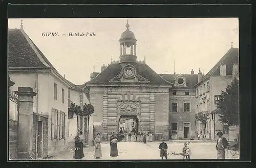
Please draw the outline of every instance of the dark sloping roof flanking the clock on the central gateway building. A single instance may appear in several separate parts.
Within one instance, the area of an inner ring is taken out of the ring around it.
[[[136,72],[138,74],[150,80],[150,82],[148,83],[150,85],[173,85],[173,83],[170,83],[164,78],[162,78],[145,63],[130,63],[130,64],[136,68]],[[109,83],[109,80],[117,76],[121,72],[121,70],[122,70],[122,66],[119,63],[111,63],[96,77],[86,82],[86,84]]]

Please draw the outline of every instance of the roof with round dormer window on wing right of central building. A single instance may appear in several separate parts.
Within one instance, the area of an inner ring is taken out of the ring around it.
[[[165,80],[174,83],[174,80],[177,76],[179,76],[180,74],[159,74],[160,76],[162,76]],[[198,82],[198,75],[197,74],[182,74],[182,76],[184,76],[186,78],[186,85],[187,87],[185,88],[193,88],[197,82]],[[173,87],[175,88],[175,87]]]

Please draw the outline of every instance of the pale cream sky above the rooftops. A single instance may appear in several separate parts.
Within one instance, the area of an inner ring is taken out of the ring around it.
[[[9,29],[19,29],[21,19],[8,19]],[[137,39],[137,60],[158,74],[206,74],[230,49],[239,47],[238,18],[128,18]],[[126,18],[23,19],[23,29],[56,70],[81,85],[101,66],[119,60],[119,38]],[[61,36],[95,33],[93,37]],[[42,33],[58,33],[46,37]]]

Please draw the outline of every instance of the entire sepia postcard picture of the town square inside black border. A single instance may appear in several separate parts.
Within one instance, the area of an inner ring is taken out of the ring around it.
[[[238,18],[9,18],[9,160],[240,158]]]

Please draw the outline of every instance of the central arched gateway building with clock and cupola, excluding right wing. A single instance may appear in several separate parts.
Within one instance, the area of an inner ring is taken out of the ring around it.
[[[106,141],[112,131],[118,132],[120,118],[135,118],[137,131],[152,132],[156,141],[169,139],[169,93],[174,83],[148,67],[145,60],[137,61],[137,40],[129,27],[127,22],[119,39],[119,61],[103,66],[100,73],[92,73],[84,85],[95,107],[94,135],[100,132]]]

